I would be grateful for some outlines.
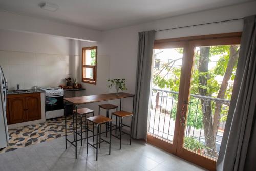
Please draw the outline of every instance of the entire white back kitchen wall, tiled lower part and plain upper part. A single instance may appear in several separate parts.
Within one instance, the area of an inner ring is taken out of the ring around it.
[[[57,86],[77,77],[78,40],[0,30],[0,65],[9,90]]]

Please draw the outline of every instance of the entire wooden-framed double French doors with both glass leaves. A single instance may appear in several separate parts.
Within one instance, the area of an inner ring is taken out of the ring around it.
[[[215,170],[241,33],[155,42],[147,141]]]

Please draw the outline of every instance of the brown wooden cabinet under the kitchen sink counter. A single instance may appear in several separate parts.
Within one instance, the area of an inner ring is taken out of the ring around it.
[[[41,119],[40,93],[8,95],[6,114],[8,124]]]

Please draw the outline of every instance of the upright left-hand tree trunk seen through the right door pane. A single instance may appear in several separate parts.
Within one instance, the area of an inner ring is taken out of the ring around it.
[[[199,76],[199,84],[200,86],[207,86],[208,81],[208,65],[209,65],[209,56],[210,56],[210,47],[200,47],[199,54],[199,66],[198,71]],[[203,74],[206,73],[206,74]],[[199,93],[202,96],[211,96],[207,89],[199,88]],[[204,125],[204,137],[205,137],[205,145],[215,150],[215,141],[214,141],[214,132],[212,127],[212,109],[211,109],[211,101],[207,101],[201,99],[201,108],[203,113],[203,125]],[[208,155],[213,155],[212,151],[207,150]]]

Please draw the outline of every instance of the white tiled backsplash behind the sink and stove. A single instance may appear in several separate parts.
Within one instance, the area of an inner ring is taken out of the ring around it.
[[[28,52],[0,51],[0,65],[8,79],[9,90],[65,83],[69,56]]]

